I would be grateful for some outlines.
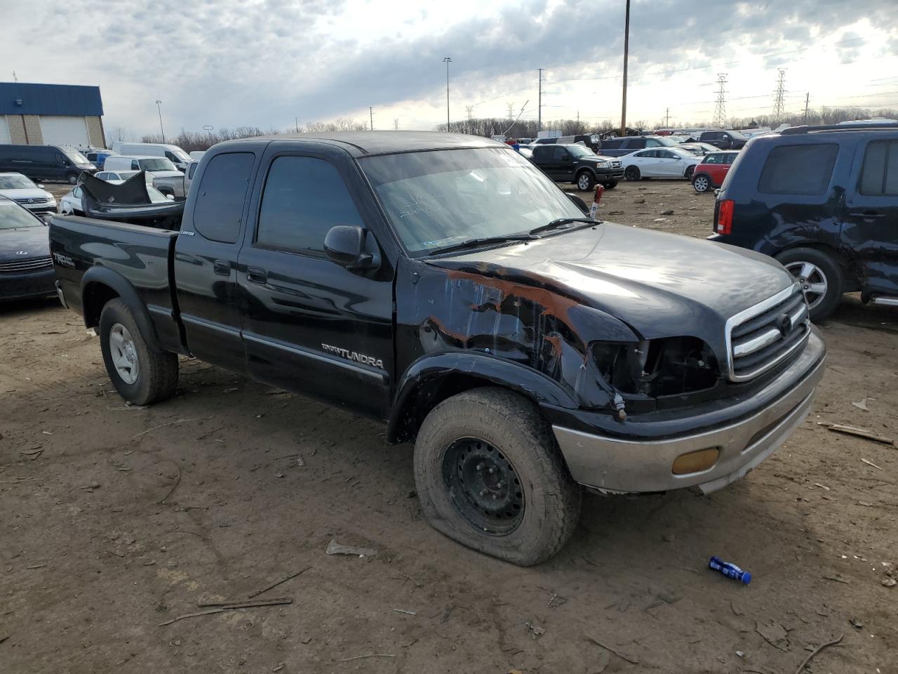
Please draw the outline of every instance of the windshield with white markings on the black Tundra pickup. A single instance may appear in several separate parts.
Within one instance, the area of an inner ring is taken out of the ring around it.
[[[510,147],[365,157],[359,164],[413,257],[468,239],[526,233],[559,217],[584,217]]]

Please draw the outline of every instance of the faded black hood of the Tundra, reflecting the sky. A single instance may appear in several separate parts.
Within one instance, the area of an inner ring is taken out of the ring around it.
[[[718,347],[726,319],[794,283],[759,253],[612,224],[428,263],[548,290],[644,339],[694,335]]]

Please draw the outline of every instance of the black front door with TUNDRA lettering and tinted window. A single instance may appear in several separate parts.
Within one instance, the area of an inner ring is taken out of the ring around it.
[[[381,254],[376,270],[347,270],[324,253],[333,226],[362,226],[374,238],[378,211],[344,150],[289,145],[269,146],[240,253],[251,376],[383,419],[393,369],[392,267]]]

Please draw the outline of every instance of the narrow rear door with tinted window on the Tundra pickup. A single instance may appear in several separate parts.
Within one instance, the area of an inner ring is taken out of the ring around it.
[[[212,157],[200,175],[195,199],[184,210],[174,255],[188,349],[198,359],[241,373],[246,372],[246,354],[236,267],[256,160],[250,151]]]

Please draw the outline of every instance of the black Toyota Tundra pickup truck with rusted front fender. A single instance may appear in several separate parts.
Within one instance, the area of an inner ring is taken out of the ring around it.
[[[192,355],[383,420],[430,523],[513,563],[564,545],[580,484],[742,477],[823,375],[777,262],[591,220],[495,141],[252,138],[195,180],[180,231],[52,220],[60,298],[119,393],[171,396]]]

